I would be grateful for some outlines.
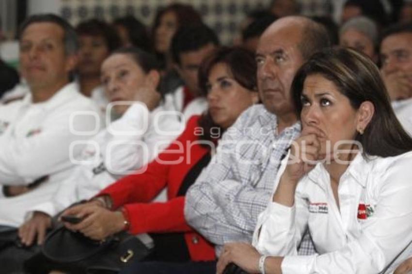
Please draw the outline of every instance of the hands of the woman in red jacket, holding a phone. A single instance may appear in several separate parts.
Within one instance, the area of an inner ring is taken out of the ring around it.
[[[78,209],[79,212],[70,213],[84,216],[84,219],[77,225],[69,223],[64,223],[64,225],[66,228],[79,231],[93,240],[104,240],[124,228],[124,216],[121,212],[113,212],[95,204],[84,205]]]

